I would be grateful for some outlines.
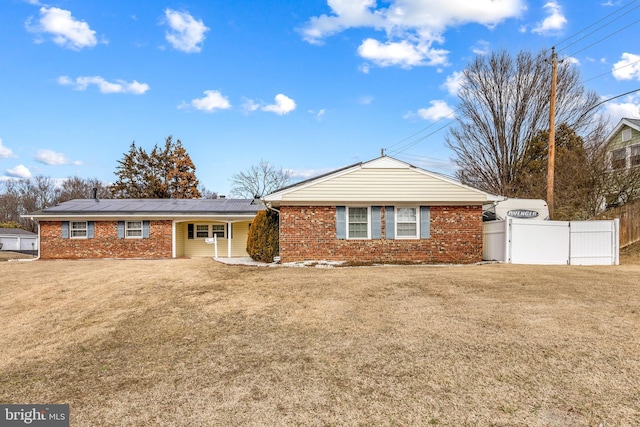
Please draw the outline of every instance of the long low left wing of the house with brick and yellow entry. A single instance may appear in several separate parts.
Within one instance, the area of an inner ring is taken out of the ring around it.
[[[247,256],[264,206],[238,199],[76,199],[25,215],[38,221],[41,259]]]

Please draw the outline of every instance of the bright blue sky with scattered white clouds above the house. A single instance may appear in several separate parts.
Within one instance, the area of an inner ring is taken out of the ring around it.
[[[640,88],[638,0],[2,0],[0,11],[0,180],[113,182],[131,142],[150,151],[169,135],[219,194],[261,160],[302,179],[382,148],[452,175],[444,137],[475,55],[558,46],[603,99]],[[602,114],[640,118],[640,94]]]

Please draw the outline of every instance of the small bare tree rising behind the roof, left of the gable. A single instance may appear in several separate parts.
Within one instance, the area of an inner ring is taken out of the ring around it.
[[[291,174],[282,168],[277,169],[269,162],[260,160],[246,172],[240,172],[231,178],[231,194],[238,197],[262,197],[289,184]]]

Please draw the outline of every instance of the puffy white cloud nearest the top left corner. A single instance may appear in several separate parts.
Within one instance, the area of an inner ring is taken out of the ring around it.
[[[27,30],[38,34],[49,34],[59,46],[80,50],[93,47],[98,41],[96,32],[84,21],[77,21],[71,12],[57,7],[41,7],[40,19],[31,25],[32,18],[26,23]]]

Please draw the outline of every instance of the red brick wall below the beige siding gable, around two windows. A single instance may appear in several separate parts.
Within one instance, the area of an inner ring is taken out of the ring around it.
[[[336,238],[335,206],[281,206],[281,262],[472,263],[482,260],[482,207],[432,206],[429,239]]]

